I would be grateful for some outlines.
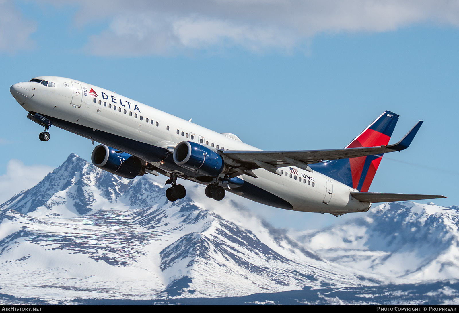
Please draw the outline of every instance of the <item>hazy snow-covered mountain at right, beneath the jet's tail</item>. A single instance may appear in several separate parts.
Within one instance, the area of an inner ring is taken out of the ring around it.
[[[459,208],[385,203],[324,230],[297,236],[335,264],[398,283],[459,279]]]

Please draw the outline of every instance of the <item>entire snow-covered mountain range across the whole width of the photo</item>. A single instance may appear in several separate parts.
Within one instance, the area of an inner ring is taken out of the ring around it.
[[[216,202],[189,181],[171,203],[154,179],[127,180],[71,154],[3,203],[0,293],[47,303],[183,299],[459,278],[458,208],[384,204],[294,233],[243,198]]]

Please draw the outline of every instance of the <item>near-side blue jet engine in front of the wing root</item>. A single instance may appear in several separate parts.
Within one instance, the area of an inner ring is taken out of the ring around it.
[[[203,176],[215,177],[227,170],[217,152],[189,141],[182,141],[175,147],[174,162]]]

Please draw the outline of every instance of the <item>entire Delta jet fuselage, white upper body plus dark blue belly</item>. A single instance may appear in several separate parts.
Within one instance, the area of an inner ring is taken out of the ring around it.
[[[177,165],[170,153],[182,141],[220,150],[260,150],[231,134],[205,127],[157,110],[118,93],[63,77],[37,77],[40,82],[21,82],[11,93],[28,112],[39,113],[54,126],[135,155],[179,177],[208,184],[195,172]],[[370,207],[350,196],[357,191],[317,171],[279,168],[282,175],[253,170],[258,178],[239,176],[244,186],[223,185],[227,191],[283,209],[345,214]]]

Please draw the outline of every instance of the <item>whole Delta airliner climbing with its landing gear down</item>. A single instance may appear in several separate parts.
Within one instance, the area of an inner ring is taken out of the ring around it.
[[[336,216],[365,212],[371,203],[445,198],[368,192],[384,153],[408,148],[422,121],[396,144],[389,139],[398,115],[383,112],[343,149],[262,151],[231,134],[217,133],[84,82],[42,76],[19,82],[11,94],[28,118],[57,126],[99,144],[91,160],[126,178],[146,172],[168,176],[169,201],[184,198],[177,178],[207,185],[219,201],[233,192],[273,207]]]

